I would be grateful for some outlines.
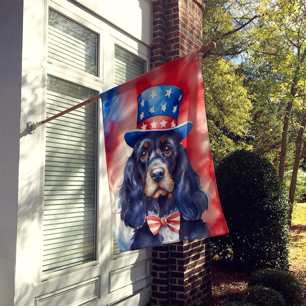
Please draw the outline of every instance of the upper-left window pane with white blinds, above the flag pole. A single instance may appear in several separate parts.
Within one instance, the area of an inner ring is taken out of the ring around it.
[[[49,8],[47,56],[98,75],[98,34]]]

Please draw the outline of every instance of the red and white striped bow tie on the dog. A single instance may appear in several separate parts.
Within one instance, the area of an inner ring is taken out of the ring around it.
[[[179,212],[174,212],[166,218],[165,217],[159,218],[155,215],[149,215],[147,216],[147,222],[154,236],[159,232],[162,226],[166,225],[169,226],[170,230],[173,230],[174,232],[178,233],[180,230],[180,223],[181,223],[180,217],[181,213]]]

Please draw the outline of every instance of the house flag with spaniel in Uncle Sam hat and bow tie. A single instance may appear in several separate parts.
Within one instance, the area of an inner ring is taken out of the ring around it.
[[[228,233],[196,51],[101,93],[121,252]]]

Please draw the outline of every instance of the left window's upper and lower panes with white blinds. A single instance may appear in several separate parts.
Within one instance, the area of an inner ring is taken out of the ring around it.
[[[97,51],[96,33],[49,8],[48,58],[76,72],[97,75]],[[48,75],[46,116],[50,118],[97,94]],[[96,139],[96,102],[46,125],[43,275],[96,259]]]

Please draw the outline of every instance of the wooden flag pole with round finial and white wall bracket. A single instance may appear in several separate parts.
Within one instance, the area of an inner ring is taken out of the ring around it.
[[[200,53],[204,54],[204,53],[206,53],[209,50],[214,50],[215,47],[216,47],[216,43],[211,41],[211,42],[207,43],[206,45],[202,45],[200,49],[196,50],[196,52],[198,54],[200,54]],[[94,101],[98,100],[99,98],[100,98],[100,95],[96,95],[95,97],[92,97],[92,98],[90,98],[90,99],[88,99],[88,100],[86,100],[84,102],[76,104],[75,106],[72,106],[72,107],[68,108],[67,110],[63,110],[62,112],[60,112],[60,113],[58,113],[58,114],[56,114],[56,115],[54,115],[54,116],[52,116],[50,118],[44,119],[44,120],[36,122],[36,123],[32,122],[32,121],[29,121],[29,122],[27,122],[28,133],[32,134],[32,133],[34,133],[34,131],[35,131],[35,129],[37,127],[39,127],[39,126],[41,126],[41,125],[43,125],[43,124],[45,124],[45,123],[55,119],[55,118],[58,118],[58,117],[60,117],[62,115],[65,115],[65,114],[71,112],[72,110],[76,110],[79,107],[82,107],[82,106],[84,106],[84,105],[86,105],[88,103],[94,102]]]

